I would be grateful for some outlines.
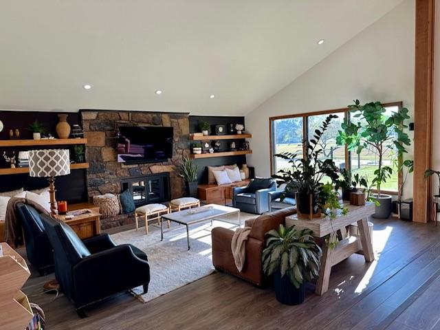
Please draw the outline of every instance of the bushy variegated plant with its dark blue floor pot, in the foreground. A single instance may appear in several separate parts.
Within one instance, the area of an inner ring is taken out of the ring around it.
[[[322,253],[311,230],[280,225],[266,236],[263,272],[274,276],[276,300],[286,305],[303,303],[305,283],[318,278]]]

